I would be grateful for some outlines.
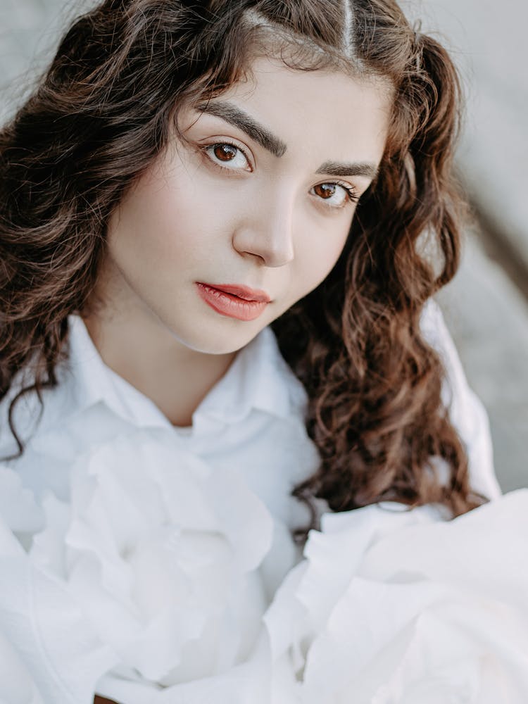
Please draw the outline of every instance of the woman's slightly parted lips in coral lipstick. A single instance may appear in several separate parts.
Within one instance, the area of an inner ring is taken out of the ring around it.
[[[199,296],[213,310],[227,318],[256,320],[270,303],[265,291],[249,289],[237,284],[203,284],[196,282]]]

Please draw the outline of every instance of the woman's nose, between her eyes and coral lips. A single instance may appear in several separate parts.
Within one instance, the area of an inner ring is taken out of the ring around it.
[[[242,256],[256,257],[269,267],[294,258],[294,194],[272,189],[256,203],[247,203],[234,228],[232,243]]]

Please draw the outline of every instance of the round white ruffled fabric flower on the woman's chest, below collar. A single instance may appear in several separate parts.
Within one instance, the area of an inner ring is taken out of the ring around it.
[[[168,687],[250,658],[273,521],[237,472],[135,432],[77,460],[70,501],[43,508],[32,562],[67,586],[120,679]]]

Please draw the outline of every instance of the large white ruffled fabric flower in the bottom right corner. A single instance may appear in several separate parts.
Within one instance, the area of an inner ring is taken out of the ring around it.
[[[528,700],[528,491],[327,514],[265,615],[273,704]]]

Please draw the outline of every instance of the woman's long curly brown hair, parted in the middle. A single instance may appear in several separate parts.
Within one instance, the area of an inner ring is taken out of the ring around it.
[[[460,87],[446,51],[393,0],[106,0],[70,27],[0,132],[0,398],[17,370],[33,372],[9,410],[20,453],[13,408],[56,385],[67,318],[87,306],[111,213],[165,148],[180,106],[221,94],[259,51],[299,70],[384,77],[394,89],[379,176],[341,258],[273,323],[308,391],[321,455],[294,494],[333,510],[389,500],[459,515],[482,497],[470,489],[420,315],[458,266]]]

